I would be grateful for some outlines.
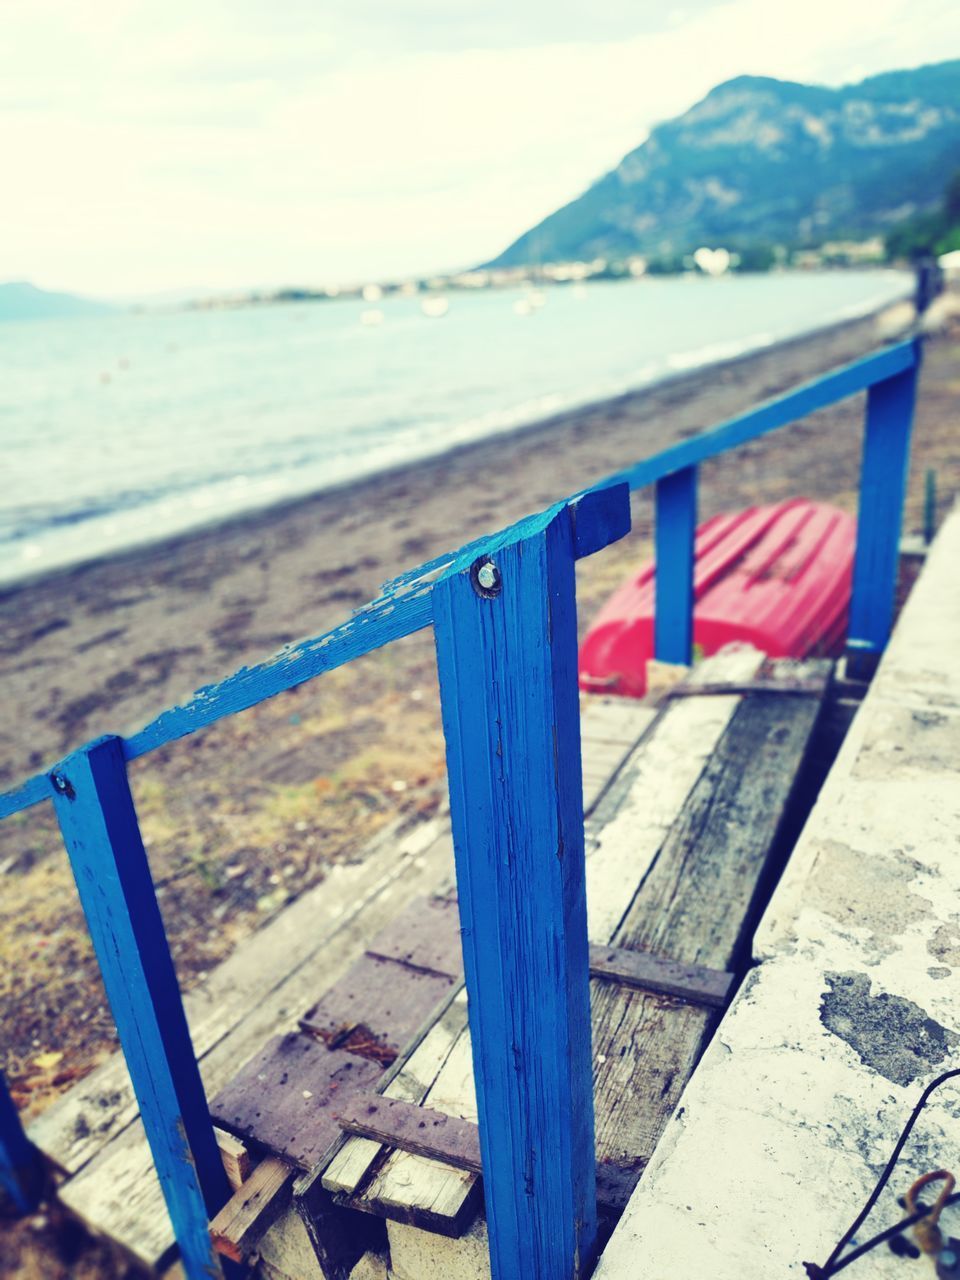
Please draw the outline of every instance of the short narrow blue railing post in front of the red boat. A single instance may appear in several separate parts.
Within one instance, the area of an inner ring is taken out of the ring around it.
[[[654,655],[689,667],[694,659],[696,467],[657,481],[657,609]]]

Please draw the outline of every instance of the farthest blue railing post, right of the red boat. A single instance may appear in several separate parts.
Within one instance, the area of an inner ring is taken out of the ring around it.
[[[890,639],[900,564],[910,431],[920,365],[874,383],[867,393],[856,558],[847,628],[847,667],[870,676]]]

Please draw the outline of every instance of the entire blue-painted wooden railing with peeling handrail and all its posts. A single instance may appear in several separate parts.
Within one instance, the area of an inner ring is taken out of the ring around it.
[[[596,1233],[575,562],[630,529],[657,486],[655,652],[689,662],[698,466],[867,390],[847,637],[869,668],[893,616],[920,364],[902,342],[608,476],[388,582],[333,631],[201,689],[132,737],[101,737],[0,796],[52,800],[191,1280],[219,1274],[209,1217],[229,1192],[140,835],[127,765],[402,636],[435,634],[484,1193],[495,1280],[572,1280]],[[0,1076],[0,1183],[40,1194]]]

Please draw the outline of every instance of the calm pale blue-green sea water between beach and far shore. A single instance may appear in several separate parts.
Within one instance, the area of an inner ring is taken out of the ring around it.
[[[893,271],[0,325],[0,580],[320,490],[904,296]],[[365,315],[366,312],[366,315]],[[588,477],[585,477],[588,479]]]

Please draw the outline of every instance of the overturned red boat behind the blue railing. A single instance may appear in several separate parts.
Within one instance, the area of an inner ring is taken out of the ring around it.
[[[837,654],[846,634],[856,521],[806,498],[714,516],[696,530],[694,645],[732,640],[772,658]],[[580,646],[580,687],[643,698],[653,658],[650,561],[596,616]]]

